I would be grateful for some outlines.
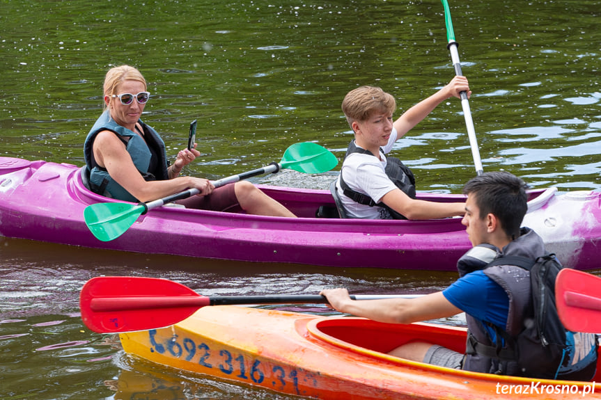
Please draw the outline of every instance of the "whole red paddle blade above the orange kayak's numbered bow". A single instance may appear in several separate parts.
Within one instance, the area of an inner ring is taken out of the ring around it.
[[[179,283],[130,276],[92,278],[79,295],[81,319],[98,333],[170,326],[209,303]]]

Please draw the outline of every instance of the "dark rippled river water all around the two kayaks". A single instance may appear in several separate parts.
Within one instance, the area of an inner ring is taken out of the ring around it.
[[[451,0],[484,170],[561,191],[601,186],[600,14],[600,1]],[[198,119],[203,157],[185,172],[210,178],[279,161],[300,141],[341,158],[352,138],[340,110],[348,90],[382,86],[400,115],[454,74],[438,0],[0,0],[0,26],[0,155],[78,166],[113,65],[129,63],[145,75],[153,97],[143,119],[173,157]],[[449,99],[394,153],[412,167],[420,190],[458,193],[474,175],[465,132],[460,103]],[[255,182],[324,188],[335,173],[287,171]],[[101,274],[175,279],[203,294],[314,294],[341,285],[403,293],[453,279],[3,239],[0,399],[277,398],[131,360],[110,337],[90,333],[77,315],[78,294]]]

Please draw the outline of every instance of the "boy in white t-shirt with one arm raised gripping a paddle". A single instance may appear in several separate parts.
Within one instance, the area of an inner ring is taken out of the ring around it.
[[[392,114],[396,109],[396,101],[384,90],[373,86],[361,86],[351,90],[345,96],[342,109],[354,131],[354,141],[349,145],[341,175],[336,182],[336,191],[348,217],[370,219],[404,217],[416,220],[462,216],[465,213],[463,202],[440,203],[416,200],[413,177],[408,168],[404,169],[405,166],[402,167],[403,170],[397,172],[399,179],[405,181],[400,186],[406,184],[407,189],[399,189],[399,186],[387,175],[385,156],[398,138],[402,138],[407,131],[426,118],[426,115],[440,102],[449,97],[460,97],[462,91],[471,94],[467,79],[454,77],[444,88],[412,106],[394,122]],[[403,177],[403,171],[411,175],[410,179],[409,176]],[[341,177],[343,177],[342,184]]]

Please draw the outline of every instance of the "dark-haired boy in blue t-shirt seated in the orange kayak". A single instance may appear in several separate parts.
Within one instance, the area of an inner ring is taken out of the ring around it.
[[[346,289],[326,289],[322,295],[339,312],[386,323],[412,323],[465,312],[470,339],[485,346],[501,343],[502,349],[508,349],[506,340],[497,334],[505,332],[517,338],[526,328],[526,319],[533,315],[529,271],[511,264],[483,268],[497,257],[536,259],[546,254],[538,234],[520,228],[528,208],[525,189],[522,179],[503,172],[484,173],[467,182],[462,224],[474,247],[458,262],[459,280],[444,291],[412,299],[373,301],[353,301]],[[552,378],[591,379],[597,360],[595,335],[568,332],[567,336],[570,347]],[[542,345],[533,342],[530,346]],[[521,375],[523,370],[518,360],[501,360],[473,351],[461,354],[428,342],[409,342],[390,353],[468,371]],[[541,365],[540,372],[547,368]]]

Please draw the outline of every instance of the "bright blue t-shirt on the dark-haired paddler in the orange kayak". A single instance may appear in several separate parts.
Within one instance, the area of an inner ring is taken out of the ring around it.
[[[509,297],[484,271],[474,271],[456,280],[442,291],[446,300],[476,319],[491,322],[501,329],[507,325]],[[488,328],[486,326],[486,328]],[[489,329],[487,329],[489,330]],[[494,330],[490,329],[494,338]]]

